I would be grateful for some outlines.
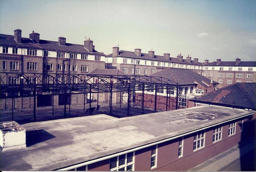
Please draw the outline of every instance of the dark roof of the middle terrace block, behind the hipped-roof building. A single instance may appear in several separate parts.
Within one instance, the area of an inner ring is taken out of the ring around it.
[[[106,57],[113,57],[113,54],[109,54]],[[183,57],[183,61],[181,62],[179,59],[177,59],[175,57],[170,57],[170,60],[167,60],[164,56],[155,55],[155,58],[152,58],[152,57],[149,57],[149,55],[146,53],[141,53],[141,56],[137,56],[132,51],[124,51],[124,50],[119,51],[119,55],[117,57],[128,57],[128,58],[136,58],[136,59],[141,59],[141,60],[155,60],[155,61],[182,63],[182,64],[189,64],[189,65],[200,65],[200,66],[203,65],[202,63],[197,63],[193,60],[191,60],[191,63],[190,63],[186,60],[186,57],[185,57],[185,59]]]

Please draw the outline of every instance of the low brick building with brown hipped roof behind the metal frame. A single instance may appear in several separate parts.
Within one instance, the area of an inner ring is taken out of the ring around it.
[[[163,77],[172,80],[179,85],[178,95],[177,89],[170,89],[170,91],[167,91],[166,88],[158,88],[157,98],[156,91],[150,90],[151,85],[146,85],[147,90],[144,95],[144,107],[154,108],[155,100],[157,100],[157,109],[159,110],[166,110],[166,102],[169,102],[167,110],[176,109],[176,101],[178,101],[179,109],[190,107],[192,104],[189,105],[189,99],[216,90],[216,86],[218,84],[218,82],[204,77],[194,71],[180,68],[167,68],[153,73],[150,76]],[[136,91],[135,104],[137,106],[140,106],[141,104],[141,95],[141,92]],[[166,101],[166,99],[168,99],[168,101]]]

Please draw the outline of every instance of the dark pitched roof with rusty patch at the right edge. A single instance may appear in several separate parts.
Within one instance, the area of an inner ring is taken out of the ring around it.
[[[195,97],[191,101],[255,110],[255,84],[234,83],[206,95]]]

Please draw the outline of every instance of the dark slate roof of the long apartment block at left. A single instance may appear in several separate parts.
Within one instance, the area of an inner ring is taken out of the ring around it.
[[[65,51],[65,52],[74,52],[82,54],[94,54],[94,55],[105,55],[104,53],[89,52],[84,48],[84,45],[66,43],[66,46],[60,45],[58,41],[47,41],[39,40],[39,44],[34,44],[29,38],[21,38],[21,43],[17,43],[14,40],[13,35],[0,34],[0,45],[9,46],[9,47],[19,47],[19,48],[35,48],[35,49],[44,49],[51,51]]]

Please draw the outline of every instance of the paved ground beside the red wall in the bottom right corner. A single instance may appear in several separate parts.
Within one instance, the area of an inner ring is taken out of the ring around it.
[[[235,146],[189,171],[255,171],[255,140]]]

